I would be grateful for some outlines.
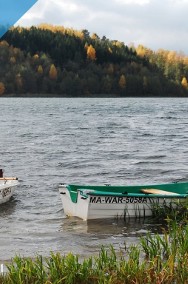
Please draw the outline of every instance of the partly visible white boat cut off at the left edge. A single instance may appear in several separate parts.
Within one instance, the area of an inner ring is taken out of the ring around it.
[[[18,178],[3,177],[3,171],[0,169],[0,204],[10,200],[17,185]]]

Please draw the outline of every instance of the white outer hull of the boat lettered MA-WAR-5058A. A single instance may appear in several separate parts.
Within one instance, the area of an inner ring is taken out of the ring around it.
[[[155,206],[169,205],[172,201],[179,200],[175,194],[172,196],[139,193],[123,195],[115,192],[97,194],[92,189],[78,189],[76,200],[73,200],[66,185],[60,185],[59,192],[65,215],[76,216],[83,220],[152,216]]]

